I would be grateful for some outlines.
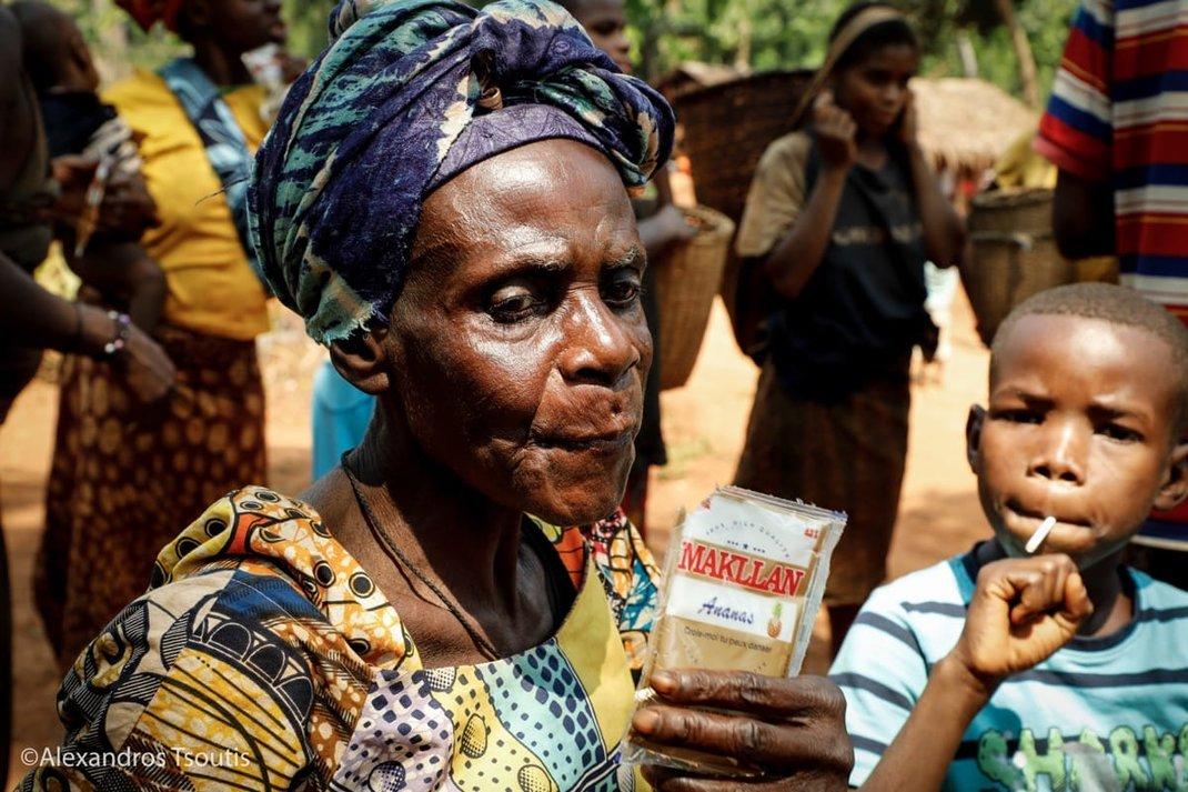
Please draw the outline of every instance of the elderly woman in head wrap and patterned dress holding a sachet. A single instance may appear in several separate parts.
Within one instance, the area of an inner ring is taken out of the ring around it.
[[[331,19],[253,227],[375,420],[303,501],[244,488],[162,552],[59,693],[63,755],[127,761],[23,788],[646,788],[620,761],[656,603],[615,509],[652,354],[624,184],[668,156],[671,111],[548,2]],[[645,769],[659,788],[846,787],[828,683],[656,686],[636,728],[764,773]]]

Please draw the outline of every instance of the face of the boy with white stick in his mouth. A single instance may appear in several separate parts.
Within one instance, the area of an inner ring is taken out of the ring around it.
[[[1047,516],[1043,549],[1081,568],[1119,551],[1152,504],[1183,499],[1188,447],[1168,345],[1136,327],[1031,315],[1010,331],[990,407],[969,414],[982,510],[1011,555]]]

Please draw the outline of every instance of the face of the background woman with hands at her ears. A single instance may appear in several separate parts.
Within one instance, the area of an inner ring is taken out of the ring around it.
[[[834,77],[838,106],[854,117],[867,137],[891,131],[908,101],[908,82],[920,68],[920,51],[910,44],[887,44]]]

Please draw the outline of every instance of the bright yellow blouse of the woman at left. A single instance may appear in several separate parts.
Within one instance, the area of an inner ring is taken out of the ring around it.
[[[252,151],[267,132],[260,117],[264,98],[258,86],[223,95]],[[138,70],[113,86],[105,101],[143,136],[141,172],[162,225],[150,228],[141,244],[169,283],[164,320],[236,340],[267,331],[267,297],[244,254],[222,184],[165,81]]]

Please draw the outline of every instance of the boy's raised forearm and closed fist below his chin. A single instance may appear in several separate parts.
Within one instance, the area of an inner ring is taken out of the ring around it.
[[[982,567],[965,628],[862,792],[939,790],[961,736],[1011,674],[1043,662],[1093,612],[1067,555],[1005,559]]]

